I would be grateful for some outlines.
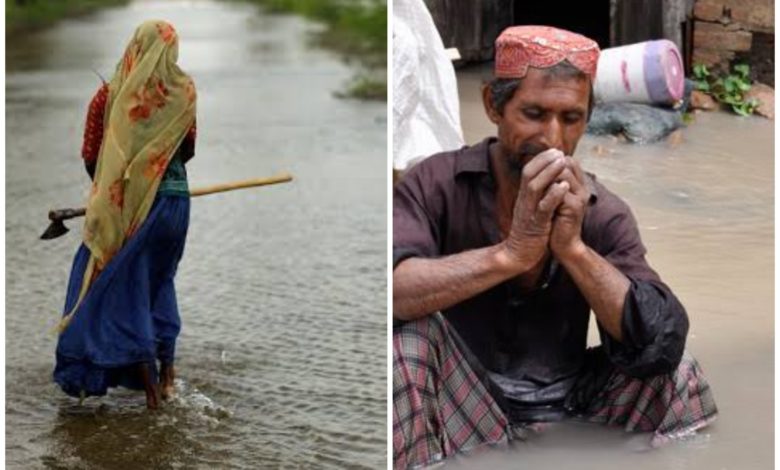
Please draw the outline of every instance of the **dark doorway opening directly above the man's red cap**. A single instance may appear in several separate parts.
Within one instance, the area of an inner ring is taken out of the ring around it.
[[[515,25],[555,26],[594,39],[602,49],[611,45],[609,0],[580,2],[515,0],[513,6]]]

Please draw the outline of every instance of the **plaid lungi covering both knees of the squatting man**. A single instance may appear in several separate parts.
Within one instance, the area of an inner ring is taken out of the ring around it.
[[[440,313],[393,328],[395,468],[430,465],[512,437],[490,384],[462,348]],[[709,384],[687,352],[674,372],[639,379],[617,371],[601,348],[588,351],[565,408],[589,422],[652,432],[653,444],[693,433],[717,415]]]

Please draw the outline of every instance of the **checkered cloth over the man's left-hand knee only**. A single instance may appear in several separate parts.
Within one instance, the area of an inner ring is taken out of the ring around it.
[[[393,465],[420,467],[507,440],[508,421],[441,314],[393,329]]]

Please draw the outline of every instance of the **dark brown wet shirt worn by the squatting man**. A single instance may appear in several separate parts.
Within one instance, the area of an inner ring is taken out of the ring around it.
[[[501,241],[489,145],[434,155],[393,192],[393,263],[436,258]],[[677,367],[685,346],[684,308],[645,260],[625,202],[588,175],[591,199],[583,241],[631,281],[623,342],[600,329],[611,362],[644,377]],[[505,282],[442,313],[504,394],[528,405],[562,400],[583,366],[590,307],[554,260],[542,286],[523,294]]]

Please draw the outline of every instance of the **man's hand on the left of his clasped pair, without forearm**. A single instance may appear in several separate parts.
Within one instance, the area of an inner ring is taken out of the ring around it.
[[[512,225],[504,241],[504,252],[518,273],[537,268],[547,255],[553,215],[571,189],[571,182],[561,179],[566,160],[560,150],[549,149],[523,167]]]

